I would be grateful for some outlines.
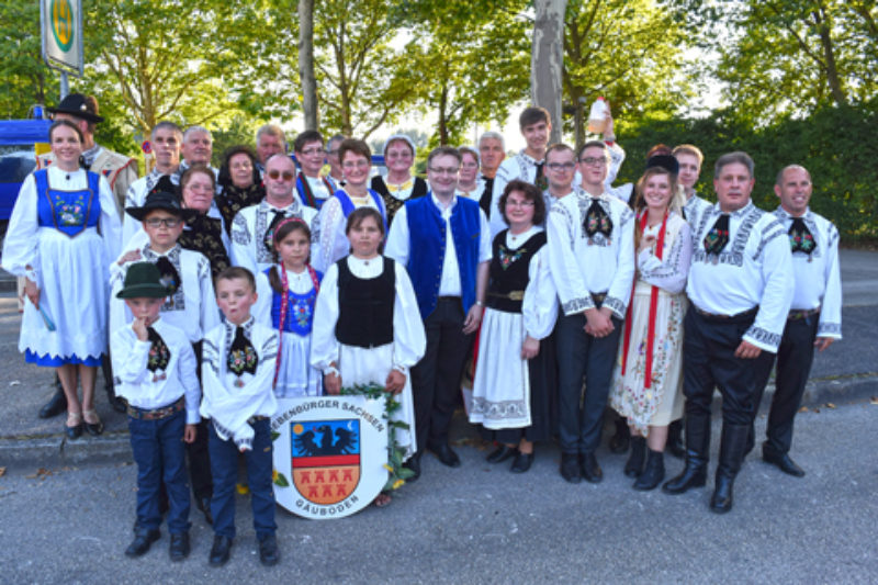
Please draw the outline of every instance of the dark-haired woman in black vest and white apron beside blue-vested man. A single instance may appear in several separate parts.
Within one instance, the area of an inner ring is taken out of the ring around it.
[[[509,228],[494,238],[470,421],[499,443],[489,462],[515,458],[511,471],[524,473],[533,462],[533,442],[552,434],[556,374],[549,335],[558,318],[558,293],[539,227],[545,220],[542,193],[509,181],[499,210]]]

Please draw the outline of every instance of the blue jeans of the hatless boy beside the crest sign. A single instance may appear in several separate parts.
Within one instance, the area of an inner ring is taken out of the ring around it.
[[[274,533],[274,490],[271,474],[272,461],[271,425],[268,418],[252,423],[254,448],[244,453],[247,462],[247,483],[254,508],[254,528],[261,542]],[[238,447],[233,440],[224,441],[211,425],[211,472],[213,474],[213,531],[216,536],[235,538],[235,484],[238,480]]]

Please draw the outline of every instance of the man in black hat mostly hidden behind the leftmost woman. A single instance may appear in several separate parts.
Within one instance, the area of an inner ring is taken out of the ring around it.
[[[115,195],[120,215],[122,214],[125,192],[131,183],[137,180],[137,162],[125,155],[113,153],[94,143],[94,125],[103,122],[103,117],[98,115],[98,100],[92,95],[81,93],[70,93],[56,108],[49,108],[53,120],[68,120],[77,125],[82,133],[82,158],[85,159],[86,170],[103,176]],[[41,155],[36,159],[37,169],[45,168],[55,161],[55,155],[48,153]],[[113,373],[110,368],[110,360],[103,360],[101,364],[104,378],[104,387],[110,404],[119,413],[125,412],[125,406],[116,398],[113,391]],[[40,409],[40,418],[52,418],[67,410],[67,398],[60,384],[56,384],[55,394]]]

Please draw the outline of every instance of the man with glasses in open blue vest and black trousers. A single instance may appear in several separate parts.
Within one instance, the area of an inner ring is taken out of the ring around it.
[[[463,367],[479,329],[491,262],[491,228],[479,202],[455,196],[461,156],[440,146],[427,157],[431,193],[407,201],[391,226],[385,255],[408,269],[427,351],[412,369],[417,453],[406,463],[420,475],[424,449],[457,468],[448,427]]]

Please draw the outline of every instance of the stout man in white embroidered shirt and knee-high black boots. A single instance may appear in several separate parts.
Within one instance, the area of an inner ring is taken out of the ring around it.
[[[770,360],[792,301],[787,233],[750,199],[753,159],[730,153],[716,164],[718,203],[693,229],[695,250],[686,293],[684,382],[686,468],[663,486],[667,494],[707,481],[710,403],[722,395],[722,439],[710,509],[732,509],[732,486],[744,459],[756,398],[756,372]]]

